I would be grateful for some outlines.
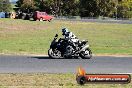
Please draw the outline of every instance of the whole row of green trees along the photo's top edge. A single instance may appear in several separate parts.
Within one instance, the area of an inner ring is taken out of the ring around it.
[[[23,12],[45,11],[55,16],[131,18],[132,0],[18,0]],[[10,11],[9,0],[0,0],[0,11]]]

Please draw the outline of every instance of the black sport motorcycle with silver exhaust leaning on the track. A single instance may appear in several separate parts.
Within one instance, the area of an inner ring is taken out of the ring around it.
[[[69,39],[60,38],[57,40],[58,34],[55,35],[53,41],[51,42],[50,49],[48,50],[48,55],[50,58],[79,58],[91,59],[92,51],[87,44],[88,41],[79,41],[76,46]]]

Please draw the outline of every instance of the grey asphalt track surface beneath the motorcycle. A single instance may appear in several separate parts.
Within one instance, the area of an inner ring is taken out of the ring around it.
[[[0,73],[132,73],[132,57],[94,56],[92,59],[51,59],[47,56],[0,55]]]

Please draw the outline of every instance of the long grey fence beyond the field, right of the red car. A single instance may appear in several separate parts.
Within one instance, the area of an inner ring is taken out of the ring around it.
[[[82,21],[82,22],[99,22],[99,23],[120,23],[120,24],[132,24],[132,19],[126,18],[109,18],[109,17],[67,17],[59,16],[55,20],[65,20],[65,21]]]

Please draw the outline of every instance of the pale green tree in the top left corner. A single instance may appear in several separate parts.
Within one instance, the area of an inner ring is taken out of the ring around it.
[[[12,10],[9,0],[0,0],[0,12],[10,12]]]

